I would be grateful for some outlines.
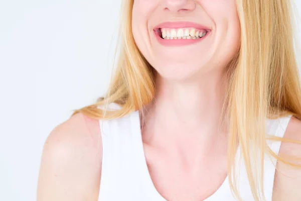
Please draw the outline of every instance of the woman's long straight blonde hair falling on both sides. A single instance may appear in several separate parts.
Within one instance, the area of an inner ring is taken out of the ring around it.
[[[97,103],[76,110],[73,115],[83,113],[94,119],[114,119],[140,110],[153,100],[156,92],[153,68],[134,42],[132,7],[133,0],[123,1],[120,52],[107,94]],[[267,145],[267,140],[292,141],[265,135],[266,118],[301,117],[301,88],[294,53],[291,9],[289,0],[237,0],[241,45],[229,66],[224,112],[229,118],[229,182],[239,200],[235,176],[238,165],[234,160],[237,144],[255,200],[265,200],[262,186],[264,154],[296,166],[275,154]],[[116,103],[121,109],[107,111],[109,103]]]

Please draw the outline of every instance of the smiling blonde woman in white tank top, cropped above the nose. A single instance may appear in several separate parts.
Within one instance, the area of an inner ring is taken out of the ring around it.
[[[51,132],[38,200],[301,200],[288,2],[124,0],[109,91]]]

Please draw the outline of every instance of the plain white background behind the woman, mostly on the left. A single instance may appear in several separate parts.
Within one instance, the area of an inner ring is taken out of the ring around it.
[[[105,92],[119,5],[0,1],[0,200],[36,199],[48,134]]]

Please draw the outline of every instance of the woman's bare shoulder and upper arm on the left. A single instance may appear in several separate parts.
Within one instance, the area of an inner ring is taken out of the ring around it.
[[[94,200],[101,150],[97,120],[78,113],[55,127],[43,148],[38,200]]]

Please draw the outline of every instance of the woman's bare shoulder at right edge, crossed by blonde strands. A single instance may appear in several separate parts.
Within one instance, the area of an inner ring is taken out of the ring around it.
[[[301,121],[292,117],[284,138],[301,142]],[[276,165],[273,200],[301,200],[301,144],[282,142],[279,156],[299,165],[295,168],[278,161]],[[299,160],[292,160],[298,158]]]

